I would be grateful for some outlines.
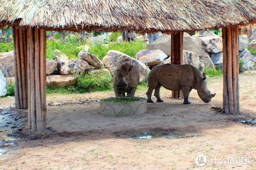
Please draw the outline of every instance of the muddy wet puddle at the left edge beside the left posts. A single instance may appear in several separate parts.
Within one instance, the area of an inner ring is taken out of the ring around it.
[[[14,145],[17,138],[12,132],[19,129],[22,118],[21,113],[11,109],[0,109],[0,155],[4,154],[7,146]]]

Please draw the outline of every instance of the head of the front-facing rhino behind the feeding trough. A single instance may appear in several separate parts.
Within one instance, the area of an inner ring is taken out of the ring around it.
[[[122,66],[117,70],[117,88],[126,89],[130,84],[129,71],[132,69],[132,65],[128,63],[122,64]]]

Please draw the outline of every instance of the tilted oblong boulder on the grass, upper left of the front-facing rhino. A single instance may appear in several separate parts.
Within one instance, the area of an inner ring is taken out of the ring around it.
[[[80,51],[78,54],[78,57],[79,59],[86,61],[87,63],[89,63],[91,66],[95,68],[100,68],[104,66],[102,61],[98,59],[97,56],[89,52],[86,52],[85,50]]]

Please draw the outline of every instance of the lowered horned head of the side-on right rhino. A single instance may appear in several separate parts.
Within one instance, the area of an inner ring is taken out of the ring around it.
[[[198,82],[197,94],[204,103],[209,103],[216,95],[216,93],[211,94],[207,88],[206,73],[203,73],[203,78]]]

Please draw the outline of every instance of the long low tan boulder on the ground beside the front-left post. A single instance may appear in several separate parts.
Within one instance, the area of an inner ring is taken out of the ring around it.
[[[63,86],[71,86],[76,83],[78,76],[76,74],[52,74],[46,76],[46,85],[47,86],[55,86],[55,87],[63,87]]]

